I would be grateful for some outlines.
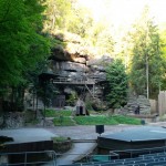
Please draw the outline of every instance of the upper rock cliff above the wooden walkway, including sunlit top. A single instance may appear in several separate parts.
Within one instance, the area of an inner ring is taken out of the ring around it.
[[[104,65],[112,62],[110,56],[96,59],[75,34],[56,34],[55,38],[62,43],[65,42],[65,46],[56,45],[52,50],[51,69],[58,79],[94,79],[96,82],[106,80]]]

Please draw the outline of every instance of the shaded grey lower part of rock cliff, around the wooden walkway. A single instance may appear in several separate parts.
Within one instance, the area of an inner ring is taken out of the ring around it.
[[[101,59],[98,59],[101,61]],[[52,60],[51,61],[51,69],[53,73],[56,75],[56,81],[62,82],[95,82],[94,87],[92,85],[87,87],[85,85],[71,85],[71,84],[61,84],[61,92],[63,94],[73,94],[76,89],[79,89],[79,93],[86,92],[90,93],[91,101],[94,105],[94,110],[101,110],[102,103],[102,95],[103,95],[103,87],[100,85],[100,83],[106,81],[106,72],[104,70],[104,66],[98,63],[91,63],[89,61],[89,65],[84,63],[77,63],[77,62],[71,62],[71,61],[58,61]],[[60,85],[59,85],[60,86]],[[68,90],[68,91],[66,91]],[[70,93],[71,92],[71,93]],[[92,94],[93,93],[93,94]],[[80,95],[80,94],[79,94]],[[83,94],[82,94],[83,95]],[[85,97],[86,94],[84,94]],[[93,95],[93,97],[92,97]],[[94,98],[95,97],[95,98]],[[68,100],[68,96],[66,96]]]

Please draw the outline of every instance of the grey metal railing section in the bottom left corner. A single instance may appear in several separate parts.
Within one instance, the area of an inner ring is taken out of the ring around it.
[[[41,159],[32,160],[29,157],[37,156],[37,155],[46,155],[49,159],[44,160],[43,157]],[[20,155],[20,156],[19,156]],[[9,163],[9,157],[18,157],[19,160],[14,160],[13,163]],[[3,160],[2,160],[3,157]],[[30,165],[49,165],[49,166],[56,166],[56,154],[54,151],[42,151],[42,152],[20,152],[20,153],[0,153],[0,166],[30,166]]]

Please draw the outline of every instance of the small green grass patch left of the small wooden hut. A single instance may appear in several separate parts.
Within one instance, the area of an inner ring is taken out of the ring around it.
[[[75,123],[69,116],[60,116],[53,120],[55,126],[74,126]]]

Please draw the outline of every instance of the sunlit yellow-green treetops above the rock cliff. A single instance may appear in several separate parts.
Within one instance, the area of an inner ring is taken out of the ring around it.
[[[83,41],[82,48],[92,48],[101,55],[114,51],[108,23],[96,22],[90,9],[72,0],[46,0],[46,7],[45,31],[53,34],[58,32],[79,34]]]

